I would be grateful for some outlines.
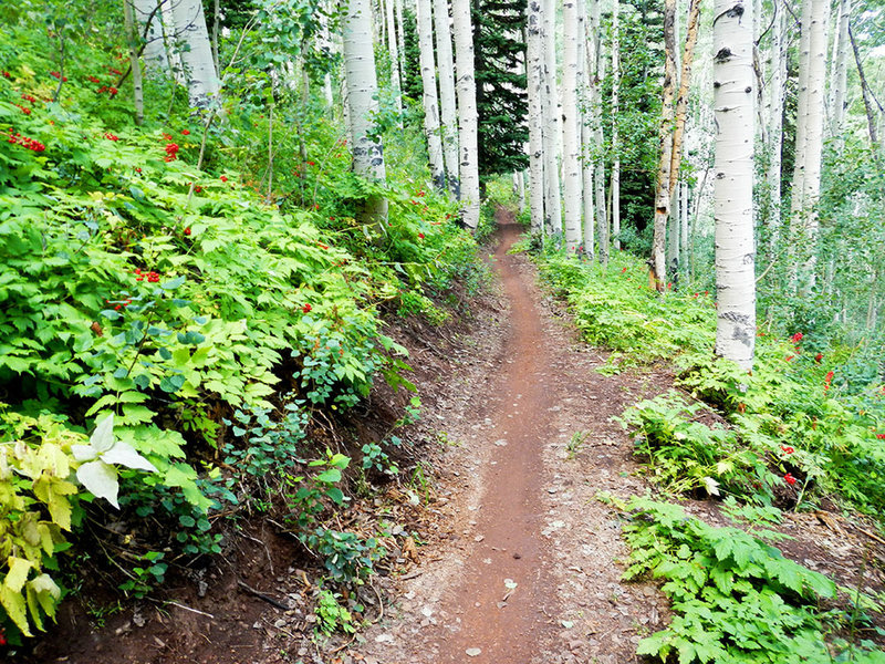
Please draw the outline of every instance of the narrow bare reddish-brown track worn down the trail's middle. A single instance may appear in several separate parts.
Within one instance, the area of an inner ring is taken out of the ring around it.
[[[556,395],[549,384],[550,340],[516,257],[507,255],[520,230],[502,226],[494,253],[510,303],[509,362],[488,395],[492,424],[483,435],[494,450],[476,519],[476,546],[465,561],[462,582],[449,592],[449,610],[460,619],[460,630],[442,642],[439,662],[461,662],[471,649],[481,651],[477,662],[528,662],[543,629],[543,610],[553,610],[539,507],[544,502],[543,442],[552,436],[550,408]]]

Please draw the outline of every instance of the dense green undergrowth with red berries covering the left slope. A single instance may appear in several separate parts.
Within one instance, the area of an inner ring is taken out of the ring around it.
[[[399,442],[330,450],[314,423],[377,380],[414,390],[385,317],[445,322],[483,276],[420,132],[387,153],[388,225],[362,225],[377,186],[317,102],[269,114],[256,70],[207,126],[148,75],[136,126],[118,8],[48,31],[32,4],[0,9],[0,636],[54,616],[77,547],[144,596],[221,551],[222,515],[282,509],[330,582],[361,582],[383,551],[334,517]],[[95,547],[112,521],[132,536]]]

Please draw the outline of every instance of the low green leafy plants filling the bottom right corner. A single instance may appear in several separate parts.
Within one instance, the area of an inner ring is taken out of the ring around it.
[[[885,662],[857,636],[881,605],[784,558],[771,543],[788,538],[772,530],[779,510],[731,499],[726,512],[741,527],[715,528],[648,498],[617,507],[631,547],[624,579],[659,580],[673,605],[670,624],[643,639],[637,654],[679,664]]]

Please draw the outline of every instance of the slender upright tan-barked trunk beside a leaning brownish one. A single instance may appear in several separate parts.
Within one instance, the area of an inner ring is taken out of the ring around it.
[[[676,0],[664,2],[664,83],[660,105],[660,126],[658,127],[658,149],[660,157],[655,190],[654,237],[652,240],[652,269],[655,287],[664,290],[667,281],[666,237],[667,219],[670,208],[670,166],[673,162],[673,97],[676,87]]]

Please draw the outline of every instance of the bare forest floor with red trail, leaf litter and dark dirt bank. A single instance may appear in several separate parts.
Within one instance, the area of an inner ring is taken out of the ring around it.
[[[621,581],[627,550],[620,521],[595,497],[647,491],[632,440],[613,418],[668,390],[673,376],[666,366],[597,373],[607,354],[577,339],[529,260],[507,253],[521,229],[500,217],[491,257],[499,280],[471,320],[448,334],[413,328],[400,340],[423,402],[407,433],[433,480],[414,492],[392,487],[375,501],[412,537],[396,540],[397,564],[358,593],[372,620],[365,631],[312,639],[303,552],[253,525],[226,559],[165,591],[165,603],[104,618],[70,603],[32,661],[637,661],[638,641],[666,624],[667,602],[655,584]],[[409,506],[415,494],[423,500]],[[725,522],[714,504],[686,507]],[[785,553],[841,583],[864,575],[867,590],[881,590],[883,561],[863,560],[870,540],[827,515],[789,515],[783,530],[796,539],[783,544]]]

